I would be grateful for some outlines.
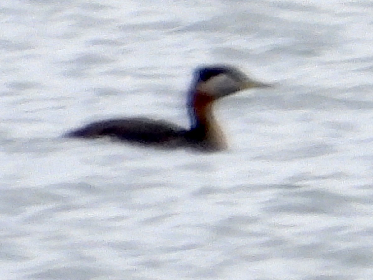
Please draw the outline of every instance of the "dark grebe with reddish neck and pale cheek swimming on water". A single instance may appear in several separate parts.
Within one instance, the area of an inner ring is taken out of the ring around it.
[[[194,80],[188,95],[191,121],[189,130],[167,121],[125,118],[93,122],[71,131],[66,136],[84,138],[111,136],[119,140],[164,147],[223,150],[226,148],[226,143],[212,113],[213,103],[237,91],[258,87],[269,87],[269,85],[251,80],[235,67],[226,65],[201,67],[194,72]]]

